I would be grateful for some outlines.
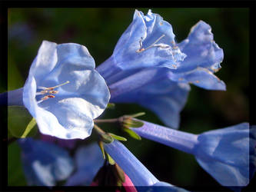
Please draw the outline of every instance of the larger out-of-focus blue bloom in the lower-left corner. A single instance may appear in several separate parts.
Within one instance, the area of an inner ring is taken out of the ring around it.
[[[74,170],[74,162],[65,149],[31,137],[19,139],[22,147],[22,166],[28,185],[55,186],[67,179]]]

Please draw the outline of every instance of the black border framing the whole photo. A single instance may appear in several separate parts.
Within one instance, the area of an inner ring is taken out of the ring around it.
[[[0,2],[0,58],[2,59],[1,79],[7,79],[8,64],[8,8],[249,8],[250,10],[250,124],[256,124],[256,1],[7,1]],[[7,90],[7,81],[6,81]],[[6,101],[7,103],[7,101]],[[7,127],[7,107],[1,106],[1,123],[2,127]],[[8,187],[8,161],[7,161],[7,129],[3,129],[2,133],[2,157],[6,155],[2,162],[2,191],[115,191],[114,187]],[[255,179],[255,176],[254,176]],[[221,186],[184,186],[185,189],[192,191],[221,191]],[[254,180],[248,187],[244,187],[242,191],[255,187]],[[138,191],[149,190],[150,187],[138,187]],[[158,191],[161,191],[158,187]],[[256,187],[255,187],[256,190]],[[124,191],[124,190],[121,190]],[[227,188],[228,191],[228,188]]]

